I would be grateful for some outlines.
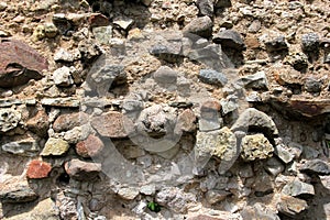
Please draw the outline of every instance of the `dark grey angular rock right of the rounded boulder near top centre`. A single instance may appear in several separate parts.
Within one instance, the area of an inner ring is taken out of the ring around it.
[[[213,42],[216,44],[221,44],[223,47],[230,47],[239,51],[243,51],[246,47],[241,34],[232,30],[220,31],[215,35]]]

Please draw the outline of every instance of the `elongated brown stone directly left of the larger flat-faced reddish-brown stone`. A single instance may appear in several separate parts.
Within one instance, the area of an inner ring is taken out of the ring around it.
[[[86,124],[88,122],[88,114],[85,112],[75,112],[59,116],[54,124],[55,132],[68,131],[75,127]]]

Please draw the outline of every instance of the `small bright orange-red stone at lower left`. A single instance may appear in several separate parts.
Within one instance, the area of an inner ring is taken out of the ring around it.
[[[46,178],[52,170],[51,164],[34,160],[29,164],[28,178]]]

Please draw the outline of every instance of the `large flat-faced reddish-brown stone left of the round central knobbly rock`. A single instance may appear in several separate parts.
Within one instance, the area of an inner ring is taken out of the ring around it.
[[[91,125],[102,136],[127,138],[128,134],[123,127],[123,114],[117,111],[107,112],[91,120]]]

